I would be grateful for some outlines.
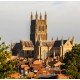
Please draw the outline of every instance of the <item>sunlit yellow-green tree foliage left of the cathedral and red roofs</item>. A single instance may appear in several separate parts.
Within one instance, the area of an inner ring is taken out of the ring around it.
[[[17,71],[17,61],[8,61],[11,57],[11,51],[7,52],[8,48],[5,42],[0,44],[0,78],[7,78],[10,73]]]

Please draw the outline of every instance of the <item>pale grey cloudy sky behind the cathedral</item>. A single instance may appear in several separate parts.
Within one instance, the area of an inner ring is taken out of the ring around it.
[[[72,38],[80,43],[80,1],[0,1],[0,37],[7,44],[30,40],[30,15],[47,13],[48,40]]]

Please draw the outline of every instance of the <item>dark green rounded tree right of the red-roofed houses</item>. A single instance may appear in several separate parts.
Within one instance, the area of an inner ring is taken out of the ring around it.
[[[72,79],[80,79],[80,44],[75,45],[70,52],[65,54],[65,74]]]

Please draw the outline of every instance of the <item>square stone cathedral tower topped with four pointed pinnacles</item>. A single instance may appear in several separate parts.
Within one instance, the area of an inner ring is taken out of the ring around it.
[[[36,12],[35,19],[33,19],[33,14],[31,12],[31,26],[30,26],[30,40],[35,45],[39,40],[47,40],[47,15],[45,12],[44,19],[42,19],[42,14],[40,13],[40,18]]]

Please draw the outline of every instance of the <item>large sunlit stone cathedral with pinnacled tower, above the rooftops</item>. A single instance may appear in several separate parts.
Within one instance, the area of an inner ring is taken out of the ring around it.
[[[42,14],[38,16],[37,12],[35,19],[31,12],[31,24],[30,24],[30,40],[20,40],[19,43],[12,44],[13,55],[18,55],[24,58],[34,58],[46,60],[48,58],[62,60],[65,57],[65,53],[70,51],[74,46],[74,37],[72,40],[69,38],[64,40],[48,40],[47,39],[47,14],[45,12],[44,19]]]

